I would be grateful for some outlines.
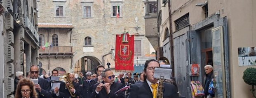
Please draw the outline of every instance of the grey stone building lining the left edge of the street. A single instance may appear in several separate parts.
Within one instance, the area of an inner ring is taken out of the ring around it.
[[[0,12],[0,97],[14,98],[15,72],[38,65],[36,0],[3,0]]]

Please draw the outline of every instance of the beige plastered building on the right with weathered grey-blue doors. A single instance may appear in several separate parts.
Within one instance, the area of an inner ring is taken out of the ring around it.
[[[167,35],[162,32],[169,25],[174,75],[181,95],[193,98],[191,80],[204,85],[204,66],[213,65],[215,98],[252,97],[251,86],[242,77],[245,69],[256,67],[250,62],[255,56],[249,55],[256,47],[254,4],[253,0],[157,0],[159,38]],[[149,40],[154,44],[156,39]],[[241,54],[243,49],[248,49],[248,54]],[[247,58],[251,60],[247,62]],[[191,74],[192,64],[200,66],[199,75]]]

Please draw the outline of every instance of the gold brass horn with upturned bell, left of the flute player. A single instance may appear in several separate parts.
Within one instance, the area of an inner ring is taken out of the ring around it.
[[[66,85],[66,88],[68,89],[71,98],[75,98],[75,96],[76,96],[75,93],[72,93],[72,92],[71,92],[71,88],[74,88],[74,89],[75,89],[75,87],[74,87],[74,85],[72,84],[73,81],[71,81],[70,78],[69,78],[69,74],[70,74],[70,73],[67,73],[67,74],[64,75],[62,78],[60,78],[60,80],[65,80],[65,83],[69,83],[69,86]]]

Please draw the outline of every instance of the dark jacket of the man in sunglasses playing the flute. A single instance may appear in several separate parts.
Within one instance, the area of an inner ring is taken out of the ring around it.
[[[103,83],[103,82],[102,82]],[[103,83],[104,84],[104,83]],[[93,97],[92,98],[126,98],[124,96],[124,91],[121,91],[120,93],[118,94],[114,94],[116,91],[118,91],[119,89],[121,89],[123,86],[122,86],[122,83],[120,82],[114,82],[111,87],[110,87],[110,93],[107,94],[107,91],[105,88],[102,88],[101,91],[99,92],[99,94],[96,94],[96,87],[99,85],[99,83],[96,83],[94,86],[93,86]]]

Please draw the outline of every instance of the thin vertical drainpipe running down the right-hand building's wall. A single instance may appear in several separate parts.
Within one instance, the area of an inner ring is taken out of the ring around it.
[[[169,10],[169,30],[170,30],[170,48],[171,48],[171,68],[172,70],[172,77],[174,77],[174,54],[173,54],[173,33],[172,33],[172,22],[171,22],[171,0],[168,0],[168,10]]]

